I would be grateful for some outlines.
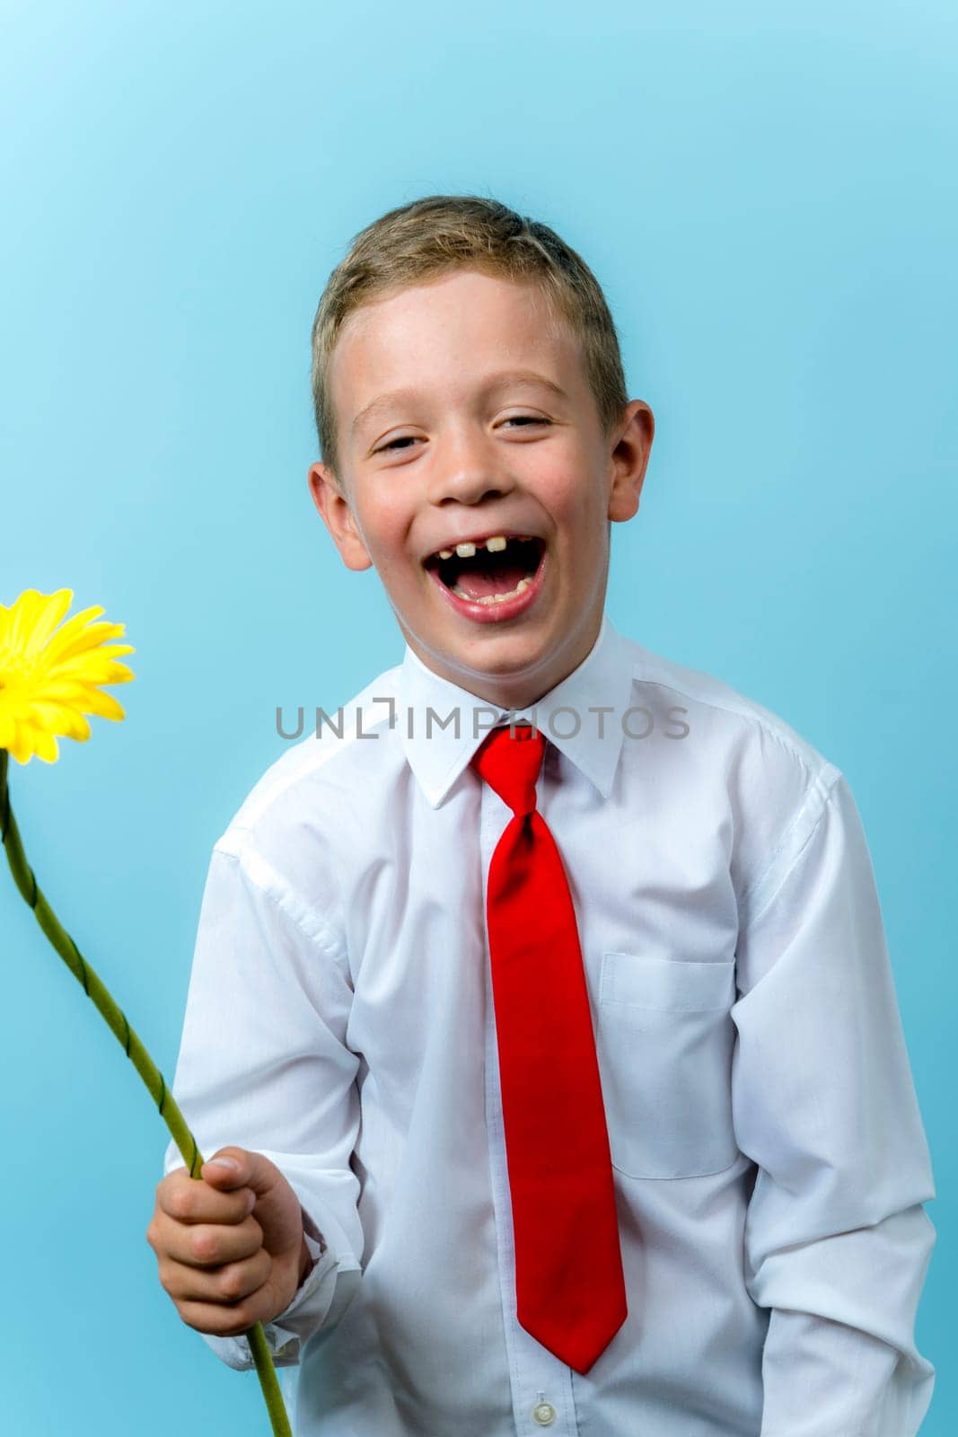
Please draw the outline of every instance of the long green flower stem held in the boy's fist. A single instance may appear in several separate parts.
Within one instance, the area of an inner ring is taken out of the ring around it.
[[[175,1138],[182,1160],[190,1170],[190,1177],[198,1178],[204,1158],[200,1155],[197,1140],[187,1127],[185,1118],[182,1117],[172,1094],[167,1088],[162,1073],[154,1063],[134,1029],[129,1026],[126,1015],[116,1006],[109,990],[103,986],[89,963],[86,963],[80,950],[76,947],[69,933],[60,925],[56,914],[37,888],[33,869],[27,864],[26,854],[23,852],[23,844],[20,841],[16,819],[10,809],[7,763],[7,750],[0,749],[0,838],[3,839],[3,846],[7,854],[14,882],[23,894],[24,901],[30,908],[33,908],[36,921],[43,928],[46,937],[60,954],[73,977],[83,984],[83,992],[93,1002],[98,1012],[106,1019],[106,1023],[122,1043],[124,1052],[142,1081],[147,1083],[149,1095],[159,1109],[159,1117],[164,1119],[169,1132]],[[190,1155],[187,1157],[187,1154]],[[257,1322],[247,1332],[244,1332],[244,1336],[248,1339],[253,1361],[256,1362],[256,1371],[260,1380],[260,1387],[263,1388],[266,1410],[270,1415],[270,1423],[273,1424],[274,1437],[292,1437],[286,1404],[276,1377],[276,1368],[273,1367],[273,1358],[270,1357],[270,1349],[266,1344],[263,1323]]]

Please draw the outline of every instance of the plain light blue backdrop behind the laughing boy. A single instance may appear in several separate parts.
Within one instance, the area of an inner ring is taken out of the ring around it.
[[[309,329],[375,216],[554,226],[658,431],[609,612],[846,772],[939,1237],[922,1428],[955,1428],[958,11],[711,3],[3,4],[0,602],[136,645],[128,717],[11,763],[40,884],[171,1078],[210,849],[283,749],[399,661],[315,513]],[[949,178],[951,175],[951,178]],[[263,1434],[145,1240],[167,1129],[0,875],[3,1431]]]

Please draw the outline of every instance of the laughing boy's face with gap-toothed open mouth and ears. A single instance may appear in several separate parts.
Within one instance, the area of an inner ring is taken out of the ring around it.
[[[375,565],[435,673],[504,707],[534,703],[599,634],[609,520],[638,510],[649,407],[633,399],[603,438],[579,343],[541,292],[477,270],[355,310],[330,385],[340,474],[313,464],[309,479],[343,562]],[[536,542],[438,559],[491,536]]]

